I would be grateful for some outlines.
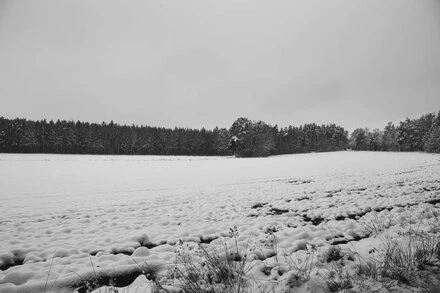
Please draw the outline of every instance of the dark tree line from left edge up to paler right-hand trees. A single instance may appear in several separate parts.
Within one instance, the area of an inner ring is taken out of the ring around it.
[[[127,126],[0,117],[0,152],[122,155],[269,156],[345,149],[347,132],[334,124],[278,129],[238,118],[230,129]]]

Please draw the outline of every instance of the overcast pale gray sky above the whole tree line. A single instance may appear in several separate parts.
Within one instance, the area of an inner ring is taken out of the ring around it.
[[[0,0],[0,116],[380,127],[440,110],[439,0]]]

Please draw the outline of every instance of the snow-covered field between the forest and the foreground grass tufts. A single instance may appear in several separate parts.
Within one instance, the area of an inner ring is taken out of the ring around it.
[[[0,154],[0,292],[72,292],[91,275],[129,285],[145,263],[166,266],[182,245],[218,244],[233,227],[254,267],[273,262],[270,237],[279,257],[367,251],[365,219],[431,219],[439,202],[435,154]]]

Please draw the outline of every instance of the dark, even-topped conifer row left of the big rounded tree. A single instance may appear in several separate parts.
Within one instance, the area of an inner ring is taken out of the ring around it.
[[[226,129],[186,129],[6,119],[0,117],[0,152],[121,155],[226,155]]]

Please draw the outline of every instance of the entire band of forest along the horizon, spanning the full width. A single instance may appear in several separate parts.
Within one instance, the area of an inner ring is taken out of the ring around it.
[[[278,128],[247,118],[207,130],[0,117],[2,153],[264,157],[345,149],[439,153],[440,112],[390,122],[383,130],[358,128],[350,137],[335,124]]]

